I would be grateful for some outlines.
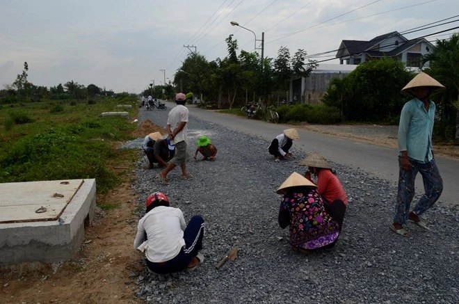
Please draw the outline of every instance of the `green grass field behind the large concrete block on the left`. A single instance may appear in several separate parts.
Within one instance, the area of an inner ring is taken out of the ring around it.
[[[117,104],[133,104],[131,118],[102,117],[119,111]],[[71,105],[72,104],[72,105]],[[3,106],[0,109],[0,182],[31,182],[95,178],[97,193],[120,183],[108,164],[125,159],[115,149],[132,139],[137,113],[135,97],[97,99],[95,104],[75,100],[45,100]],[[12,114],[13,113],[13,114]]]

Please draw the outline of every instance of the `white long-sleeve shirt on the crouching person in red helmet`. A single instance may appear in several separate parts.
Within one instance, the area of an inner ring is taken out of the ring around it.
[[[143,243],[147,233],[145,257],[150,262],[166,262],[176,257],[185,246],[185,218],[182,210],[158,206],[140,218],[137,226],[134,249]]]

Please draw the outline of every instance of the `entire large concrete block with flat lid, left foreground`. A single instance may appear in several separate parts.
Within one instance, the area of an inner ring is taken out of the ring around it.
[[[95,179],[0,184],[6,222],[0,223],[0,265],[71,259],[92,221],[95,201]],[[35,214],[41,207],[46,211]]]

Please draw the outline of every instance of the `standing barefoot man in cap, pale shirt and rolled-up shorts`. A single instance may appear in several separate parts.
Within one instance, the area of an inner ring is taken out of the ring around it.
[[[182,168],[182,178],[192,178],[191,174],[186,170],[186,163],[189,161],[190,156],[186,151],[188,147],[186,143],[188,133],[188,108],[185,106],[185,94],[177,93],[177,95],[175,95],[175,102],[177,106],[170,110],[167,122],[170,142],[175,145],[175,156],[170,160],[168,166],[156,176],[161,179],[163,184],[169,184],[168,173],[176,166]]]

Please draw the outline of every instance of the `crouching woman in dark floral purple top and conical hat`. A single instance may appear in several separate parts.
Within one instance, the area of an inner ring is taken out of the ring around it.
[[[293,172],[277,189],[284,194],[280,202],[279,225],[290,226],[290,245],[301,253],[335,246],[341,232],[346,206],[334,202],[328,212],[317,186]]]

